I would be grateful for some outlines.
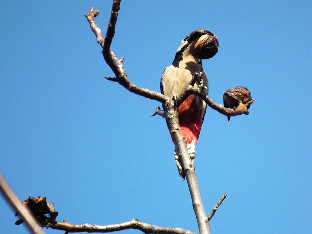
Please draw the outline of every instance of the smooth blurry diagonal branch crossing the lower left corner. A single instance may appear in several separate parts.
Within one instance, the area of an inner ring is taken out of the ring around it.
[[[39,226],[37,220],[33,217],[31,212],[22,205],[21,201],[9,187],[4,177],[0,173],[0,191],[7,199],[12,208],[23,218],[28,229],[34,234],[45,234],[42,228]]]

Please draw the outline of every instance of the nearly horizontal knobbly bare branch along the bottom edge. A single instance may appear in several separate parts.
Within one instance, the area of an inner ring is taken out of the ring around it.
[[[128,222],[111,224],[111,225],[92,225],[92,224],[80,224],[74,225],[66,221],[49,223],[47,227],[52,229],[64,230],[66,232],[113,232],[121,231],[126,229],[137,229],[144,233],[168,233],[168,234],[195,234],[190,230],[185,230],[179,227],[160,227],[156,225],[151,225],[144,222],[139,222],[137,219],[132,219]]]

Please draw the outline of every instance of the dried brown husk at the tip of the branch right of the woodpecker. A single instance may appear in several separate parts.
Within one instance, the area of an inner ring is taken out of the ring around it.
[[[251,93],[246,87],[238,86],[234,89],[226,90],[223,94],[223,104],[225,108],[235,109],[239,106],[239,102],[247,104],[251,101]],[[250,103],[246,105],[247,109],[250,108]]]

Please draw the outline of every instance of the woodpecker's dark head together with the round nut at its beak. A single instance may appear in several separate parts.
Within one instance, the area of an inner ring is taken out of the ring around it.
[[[191,32],[183,41],[191,43],[192,54],[200,59],[211,58],[218,52],[217,37],[205,29]]]

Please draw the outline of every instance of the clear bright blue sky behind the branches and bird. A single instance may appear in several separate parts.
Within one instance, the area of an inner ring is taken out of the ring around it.
[[[138,218],[197,231],[160,104],[116,83],[84,14],[103,33],[112,1],[2,1],[0,171],[19,198],[46,196],[70,223]],[[159,91],[181,40],[215,33],[210,97],[250,89],[248,116],[208,108],[195,167],[212,233],[311,233],[310,1],[122,1],[112,48],[129,79]],[[0,232],[27,233],[0,197]],[[63,231],[45,229],[47,233]],[[139,233],[135,230],[124,233]]]

